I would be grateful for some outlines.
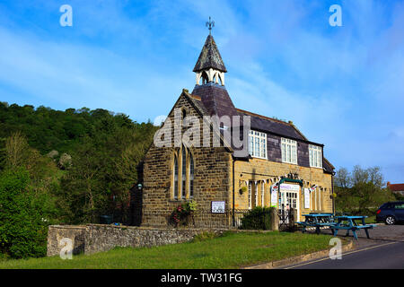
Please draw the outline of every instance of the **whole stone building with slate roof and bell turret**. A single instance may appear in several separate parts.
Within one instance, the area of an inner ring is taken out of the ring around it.
[[[334,167],[324,158],[324,144],[307,139],[291,121],[235,108],[211,35],[193,72],[194,90],[181,92],[145,155],[142,225],[166,225],[163,214],[191,199],[198,210],[214,213],[277,206],[297,209],[302,220],[304,213],[332,212]],[[237,129],[242,148],[233,140]]]

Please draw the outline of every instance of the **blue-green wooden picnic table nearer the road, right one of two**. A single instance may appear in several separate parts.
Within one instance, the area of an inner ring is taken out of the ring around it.
[[[356,230],[364,230],[364,232],[366,233],[366,237],[370,239],[368,230],[373,229],[374,224],[366,224],[364,222],[364,219],[367,218],[367,216],[342,215],[342,216],[335,216],[334,218],[338,221],[335,222],[332,226],[330,226],[330,229],[332,230],[334,236],[337,236],[338,230],[347,230],[346,236],[348,236],[349,231],[352,230],[352,233],[354,233],[354,237],[357,240]]]

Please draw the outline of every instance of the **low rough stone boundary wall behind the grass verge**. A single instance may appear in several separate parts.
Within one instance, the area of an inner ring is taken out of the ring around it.
[[[74,242],[73,254],[94,254],[115,247],[144,248],[187,242],[204,231],[223,233],[224,229],[169,229],[106,224],[81,226],[51,225],[48,229],[47,256],[59,255],[63,238]]]

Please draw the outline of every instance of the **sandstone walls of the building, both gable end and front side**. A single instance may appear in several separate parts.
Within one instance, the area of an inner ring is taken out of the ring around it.
[[[198,100],[197,100],[198,101]],[[187,116],[195,116],[200,120],[199,135],[203,135],[202,117],[195,107],[195,100],[190,100],[188,93],[183,92],[174,105],[174,109],[183,109]],[[181,115],[175,115],[173,110],[169,118],[173,123]],[[180,113],[181,114],[181,113]],[[174,126],[174,125],[173,125]],[[171,135],[174,135],[172,126]],[[187,130],[184,127],[181,135]],[[212,139],[212,131],[210,134]],[[202,138],[200,139],[202,146]],[[212,140],[211,140],[212,141]],[[174,138],[171,139],[171,146]],[[189,198],[173,198],[173,161],[176,147],[152,147],[146,153],[144,162],[144,190],[142,204],[142,226],[167,226],[170,213],[179,204]],[[298,165],[281,162],[280,137],[268,135],[268,160],[252,158],[249,161],[235,161],[233,188],[233,157],[232,152],[224,147],[189,148],[195,163],[194,197],[198,209],[210,210],[212,201],[225,201],[225,208],[233,208],[233,190],[235,209],[248,209],[248,192],[241,194],[239,190],[247,181],[257,181],[259,186],[259,204],[270,205],[270,186],[279,177],[287,174],[297,174],[303,180],[299,193],[299,219],[301,214],[311,212],[332,212],[332,183],[331,175],[324,170],[309,167],[308,144],[298,143]],[[277,178],[277,179],[275,179]],[[264,186],[264,203],[261,203],[261,185]],[[312,206],[304,209],[304,187],[317,185],[311,194]],[[254,188],[254,187],[253,187]],[[255,190],[252,190],[252,202],[255,203]],[[253,204],[254,205],[254,204]],[[252,206],[253,207],[253,206]]]

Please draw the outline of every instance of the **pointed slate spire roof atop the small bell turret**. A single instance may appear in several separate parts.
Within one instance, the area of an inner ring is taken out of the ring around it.
[[[206,38],[205,45],[202,48],[197,64],[194,67],[194,72],[199,72],[209,68],[214,68],[224,73],[227,72],[212,35],[209,35]]]

